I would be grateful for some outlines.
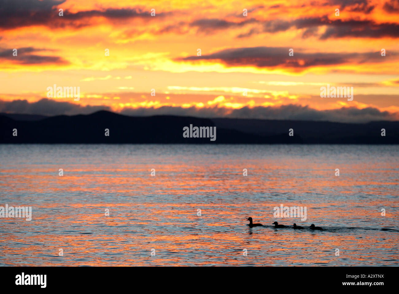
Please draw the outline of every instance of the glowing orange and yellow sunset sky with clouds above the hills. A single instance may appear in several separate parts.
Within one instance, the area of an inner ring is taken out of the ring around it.
[[[0,0],[0,112],[399,120],[398,41],[399,0]]]

